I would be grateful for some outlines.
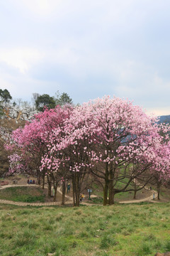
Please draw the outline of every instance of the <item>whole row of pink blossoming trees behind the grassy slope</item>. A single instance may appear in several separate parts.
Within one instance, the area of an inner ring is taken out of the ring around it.
[[[117,97],[58,105],[13,132],[6,145],[13,152],[9,173],[36,170],[42,186],[47,176],[54,200],[62,182],[63,204],[66,182],[72,180],[74,206],[79,206],[84,178],[95,177],[103,186],[103,205],[113,204],[116,193],[136,192],[155,177],[159,185],[169,179],[169,130]]]

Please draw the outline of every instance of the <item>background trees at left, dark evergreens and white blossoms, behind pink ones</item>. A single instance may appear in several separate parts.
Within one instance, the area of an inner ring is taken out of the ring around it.
[[[55,102],[53,106],[50,106],[50,102],[47,102],[49,98],[52,98]],[[32,103],[30,103],[23,101],[21,98],[13,99],[8,90],[0,89],[0,176],[4,176],[4,173],[8,170],[8,152],[4,150],[4,143],[8,134],[21,125],[23,126],[26,123],[25,120],[30,120],[33,114],[43,110],[45,105],[50,108],[65,103],[72,103],[72,99],[65,92],[62,94],[57,92],[55,97],[50,97],[50,95],[45,97],[45,95],[33,93]],[[42,108],[40,108],[40,104]]]

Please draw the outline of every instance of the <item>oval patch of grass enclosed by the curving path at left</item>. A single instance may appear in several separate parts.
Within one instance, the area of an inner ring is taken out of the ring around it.
[[[18,202],[45,202],[45,195],[41,188],[18,186],[0,190],[0,199]]]

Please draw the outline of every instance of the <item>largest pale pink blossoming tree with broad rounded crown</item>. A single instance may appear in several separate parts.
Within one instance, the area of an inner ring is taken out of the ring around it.
[[[157,120],[148,117],[132,102],[103,97],[77,107],[67,123],[67,137],[62,144],[84,152],[84,159],[71,166],[72,171],[86,166],[103,179],[103,205],[114,203],[115,193],[131,191],[130,183],[153,165],[152,149],[160,143]],[[134,164],[135,169],[130,170]],[[139,168],[140,167],[140,168]],[[117,188],[118,181],[128,181]],[[139,188],[140,189],[140,188]]]

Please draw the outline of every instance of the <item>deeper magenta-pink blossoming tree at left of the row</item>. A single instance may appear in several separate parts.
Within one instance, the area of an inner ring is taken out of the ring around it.
[[[11,136],[8,149],[16,150],[25,160],[29,169],[36,170],[38,179],[42,177],[42,186],[45,185],[46,169],[41,169],[42,156],[48,152],[48,144],[52,129],[58,127],[69,112],[69,107],[55,107],[54,110],[45,110],[36,114],[32,122],[25,127],[16,129]],[[49,183],[50,178],[47,176]],[[49,190],[51,191],[51,190]],[[49,192],[50,194],[50,192]]]

